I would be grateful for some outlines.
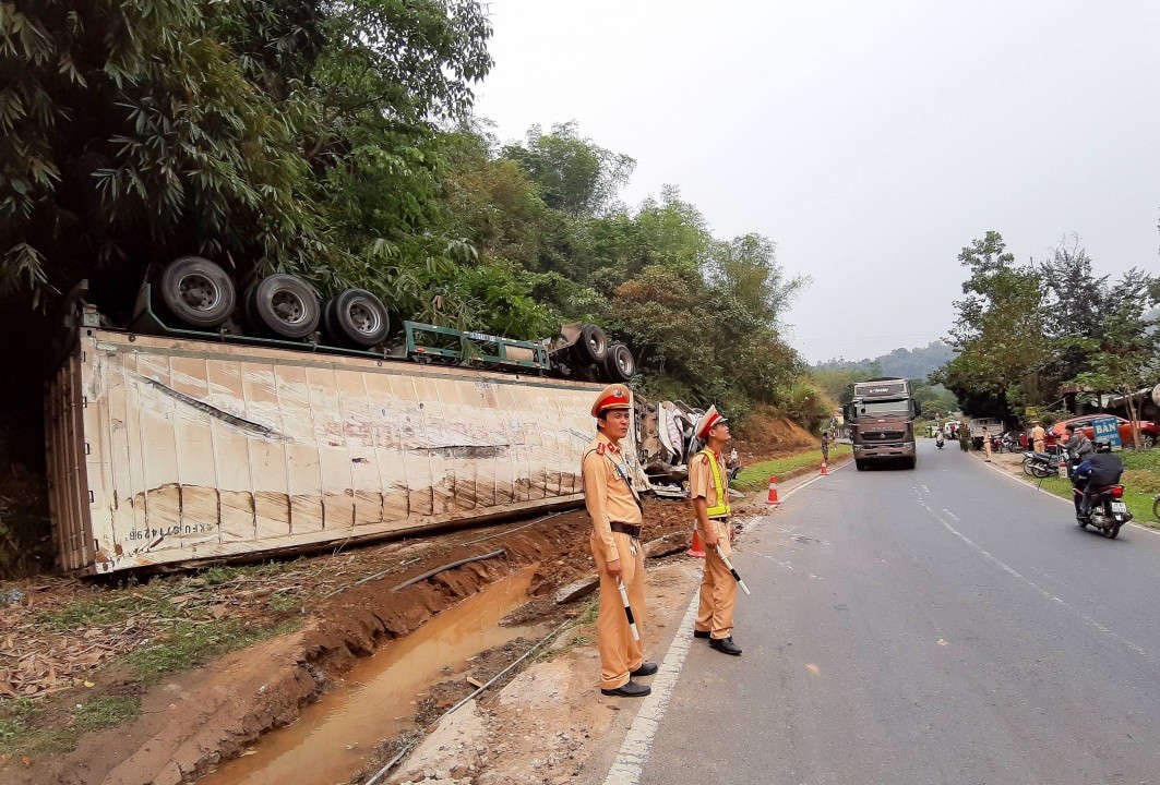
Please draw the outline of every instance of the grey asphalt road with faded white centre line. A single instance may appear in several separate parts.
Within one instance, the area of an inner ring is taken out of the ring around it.
[[[641,783],[1160,783],[1160,536],[920,446],[746,531],[745,654],[695,641]]]

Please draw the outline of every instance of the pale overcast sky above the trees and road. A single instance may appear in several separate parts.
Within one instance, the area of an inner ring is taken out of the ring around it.
[[[637,160],[720,239],[813,283],[810,362],[942,337],[991,228],[1020,262],[1076,233],[1101,272],[1160,271],[1160,1],[491,0],[477,114]],[[898,284],[901,283],[902,286]]]

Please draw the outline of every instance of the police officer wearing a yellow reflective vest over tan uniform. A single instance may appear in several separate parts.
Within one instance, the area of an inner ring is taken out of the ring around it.
[[[730,433],[716,406],[710,406],[697,421],[696,436],[705,448],[689,461],[689,499],[697,514],[697,531],[705,544],[705,573],[701,579],[701,604],[693,634],[708,638],[709,645],[718,652],[737,656],[741,654],[741,647],[733,642],[737,580],[717,553],[720,545],[728,557],[734,536],[728,519],[728,471],[722,456]]]

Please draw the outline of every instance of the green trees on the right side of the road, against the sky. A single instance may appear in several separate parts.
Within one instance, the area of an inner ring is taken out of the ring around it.
[[[1160,376],[1160,333],[1146,313],[1158,301],[1154,276],[1134,268],[1114,283],[1097,276],[1074,235],[1036,266],[1014,267],[998,232],[959,259],[972,275],[956,304],[958,355],[931,380],[965,410],[1042,414],[1058,407],[1061,385],[1126,394]]]

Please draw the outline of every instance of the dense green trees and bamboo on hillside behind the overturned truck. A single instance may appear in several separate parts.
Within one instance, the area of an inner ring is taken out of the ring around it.
[[[474,0],[5,6],[0,324],[29,372],[0,400],[23,488],[0,568],[50,558],[39,399],[64,295],[88,278],[123,325],[184,254],[515,339],[595,321],[650,395],[815,426],[825,401],[778,328],[806,281],[774,241],[713,235],[675,186],[624,205],[632,158],[575,124],[495,139],[472,116],[490,36]]]

